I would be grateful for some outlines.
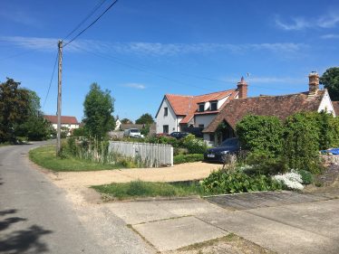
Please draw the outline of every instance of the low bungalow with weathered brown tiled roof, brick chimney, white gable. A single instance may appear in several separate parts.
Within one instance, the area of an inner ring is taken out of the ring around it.
[[[334,105],[327,89],[319,89],[319,75],[311,72],[308,78],[309,89],[306,92],[230,100],[228,107],[222,108],[218,116],[203,130],[205,142],[214,146],[228,137],[236,136],[237,122],[250,114],[285,119],[295,112],[325,110],[335,117]]]

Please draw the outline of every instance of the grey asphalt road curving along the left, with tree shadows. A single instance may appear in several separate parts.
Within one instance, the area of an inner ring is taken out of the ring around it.
[[[114,253],[94,240],[65,193],[27,163],[42,143],[0,147],[0,253]]]

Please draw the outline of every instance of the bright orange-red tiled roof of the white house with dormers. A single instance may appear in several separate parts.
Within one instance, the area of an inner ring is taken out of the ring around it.
[[[185,116],[180,121],[180,124],[186,124],[192,119],[198,111],[198,103],[208,102],[211,100],[223,99],[230,95],[236,94],[236,89],[229,89],[224,91],[218,91],[208,94],[203,94],[199,96],[183,96],[183,95],[173,95],[166,94],[165,97],[169,100],[170,106],[173,108],[174,113],[177,116]],[[223,108],[221,106],[221,108]],[[208,112],[208,111],[207,111]],[[206,113],[207,113],[206,112]]]

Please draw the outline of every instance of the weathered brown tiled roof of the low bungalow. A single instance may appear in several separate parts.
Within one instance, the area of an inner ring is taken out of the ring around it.
[[[317,111],[324,97],[324,90],[318,90],[315,96],[308,96],[308,92],[283,96],[253,97],[247,99],[231,99],[228,107],[223,108],[218,116],[206,127],[203,132],[213,133],[218,125],[227,121],[235,129],[237,121],[247,115],[276,116],[285,119],[300,111]]]

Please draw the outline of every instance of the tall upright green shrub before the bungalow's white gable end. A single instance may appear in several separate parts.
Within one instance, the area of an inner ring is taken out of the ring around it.
[[[285,128],[284,155],[288,166],[319,173],[320,129],[315,113],[296,113],[286,119]]]

